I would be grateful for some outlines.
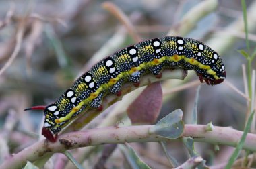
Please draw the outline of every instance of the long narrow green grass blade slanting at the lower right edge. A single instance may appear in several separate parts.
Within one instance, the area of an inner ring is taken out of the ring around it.
[[[226,165],[225,168],[231,168],[232,167],[232,165],[234,164],[234,161],[238,157],[241,149],[243,148],[243,144],[245,143],[245,139],[246,139],[247,133],[249,132],[249,129],[251,127],[251,122],[253,121],[254,113],[255,113],[255,111],[253,111],[251,113],[251,115],[249,116],[249,119],[248,119],[247,124],[245,126],[245,130],[243,132],[243,135],[242,135],[240,141],[238,142],[238,145],[236,146],[236,149],[234,150],[234,153],[232,154],[232,156],[228,160],[228,164]]]

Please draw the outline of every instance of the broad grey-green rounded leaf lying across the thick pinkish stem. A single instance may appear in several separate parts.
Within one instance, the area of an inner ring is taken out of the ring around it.
[[[169,139],[177,139],[181,137],[184,130],[184,123],[181,120],[183,112],[181,109],[176,109],[166,117],[160,119],[154,127],[150,128],[150,133],[154,133],[160,137]]]

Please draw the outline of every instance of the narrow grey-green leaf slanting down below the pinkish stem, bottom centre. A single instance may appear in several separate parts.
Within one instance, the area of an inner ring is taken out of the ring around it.
[[[150,166],[148,166],[148,164],[146,164],[141,160],[141,158],[139,158],[137,153],[133,150],[133,148],[128,143],[125,143],[125,146],[119,144],[119,148],[125,155],[125,158],[127,158],[127,161],[131,165],[131,168],[150,169]]]

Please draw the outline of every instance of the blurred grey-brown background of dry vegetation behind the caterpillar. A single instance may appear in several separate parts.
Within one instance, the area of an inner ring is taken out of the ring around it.
[[[24,109],[55,101],[96,62],[137,43],[111,9],[102,7],[104,2],[0,1],[0,135],[8,135],[7,154],[36,142],[40,135],[42,111],[25,112]],[[216,7],[201,9],[205,10],[205,15],[199,20],[193,20],[195,17],[187,13],[196,10],[202,1],[111,2],[127,15],[142,40],[163,37],[170,32],[172,36],[195,38],[216,50],[226,66],[227,82],[214,87],[201,85],[197,105],[198,123],[212,121],[214,125],[243,130],[247,100],[230,87],[231,84],[245,91],[241,65],[247,64],[247,60],[238,52],[246,48],[241,1],[212,1]],[[247,1],[247,9],[250,50],[253,51],[256,1]],[[183,21],[184,17],[188,20]],[[193,27],[190,27],[190,21],[195,24]],[[181,27],[187,30],[182,31]],[[256,67],[255,61],[252,65]],[[179,108],[185,114],[185,123],[191,122],[198,84],[191,84],[191,87],[179,92],[171,90],[194,80],[199,81],[195,72],[190,71],[183,81],[163,82],[164,102],[159,119]],[[122,111],[125,112],[125,109]],[[101,117],[98,121],[104,120],[104,116]],[[97,122],[92,122],[97,126]],[[131,145],[152,168],[168,168],[168,160],[158,144]],[[220,151],[216,152],[213,145],[203,143],[196,144],[196,148],[209,165],[225,162],[233,151],[228,146],[221,146]],[[179,162],[188,158],[184,146],[179,142],[168,144],[168,150]],[[100,152],[87,154],[87,158],[95,159],[97,154]],[[115,160],[109,160],[107,168],[123,165],[115,153],[112,158]],[[93,166],[88,159],[84,163]]]

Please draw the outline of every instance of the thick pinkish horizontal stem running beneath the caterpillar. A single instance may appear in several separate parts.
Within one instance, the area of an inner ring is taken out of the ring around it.
[[[86,146],[125,142],[170,142],[173,140],[165,137],[158,137],[158,135],[150,133],[149,129],[152,127],[154,127],[154,125],[104,127],[66,133],[61,135],[59,141],[55,143],[51,143],[47,140],[36,142],[28,148],[18,152],[15,156],[5,160],[0,168],[20,168],[26,164],[26,161],[34,162],[40,158],[44,158],[44,156],[49,156],[56,152],[64,152],[66,150]],[[195,142],[237,146],[237,142],[243,135],[243,131],[238,131],[230,127],[214,126],[213,130],[209,132],[205,132],[205,127],[206,125],[185,125],[183,136],[193,137]],[[127,137],[127,135],[129,135],[129,137]],[[73,144],[69,144],[68,142],[72,142]],[[255,134],[248,133],[243,148],[256,151]]]

